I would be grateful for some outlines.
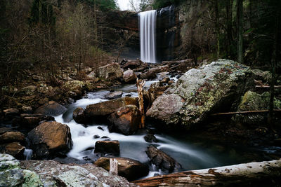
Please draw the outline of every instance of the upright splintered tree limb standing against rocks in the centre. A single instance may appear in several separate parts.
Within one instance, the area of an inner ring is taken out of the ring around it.
[[[140,128],[145,127],[145,107],[143,105],[143,86],[145,85],[145,80],[136,80],[136,85],[138,87],[138,104],[139,110],[141,111],[141,124]]]

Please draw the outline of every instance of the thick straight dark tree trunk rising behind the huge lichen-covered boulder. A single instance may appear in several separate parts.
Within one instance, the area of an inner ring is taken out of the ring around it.
[[[237,61],[243,63],[243,0],[237,0]]]

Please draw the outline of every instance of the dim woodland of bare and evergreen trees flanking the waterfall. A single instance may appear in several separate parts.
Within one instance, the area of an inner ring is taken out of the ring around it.
[[[188,57],[228,58],[280,72],[280,1],[200,3],[210,4],[211,8],[204,22],[196,23],[194,28],[209,25],[207,36],[216,43],[183,38]],[[104,50],[110,48],[110,43],[103,36],[101,23],[107,11],[118,9],[114,0],[1,0],[0,4],[1,95],[11,95],[30,78],[30,72],[40,74],[51,85],[59,85],[65,71],[76,69],[81,79],[81,67],[96,68],[114,60]],[[184,6],[186,1],[141,0],[139,10],[171,4]]]

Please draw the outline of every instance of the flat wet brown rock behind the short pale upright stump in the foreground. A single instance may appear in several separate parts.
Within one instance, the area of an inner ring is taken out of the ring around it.
[[[136,180],[142,176],[148,175],[149,169],[137,160],[130,158],[115,158],[118,162],[118,175],[124,176],[129,181]],[[107,171],[110,170],[110,158],[101,157],[94,162],[94,165],[103,167]]]

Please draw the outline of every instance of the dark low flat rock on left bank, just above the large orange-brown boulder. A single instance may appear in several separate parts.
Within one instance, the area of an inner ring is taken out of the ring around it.
[[[18,123],[22,125],[23,127],[27,127],[28,129],[33,129],[34,127],[37,127],[39,123],[43,121],[52,121],[55,120],[53,116],[45,116],[41,114],[27,114],[22,113],[20,115],[20,120]]]

